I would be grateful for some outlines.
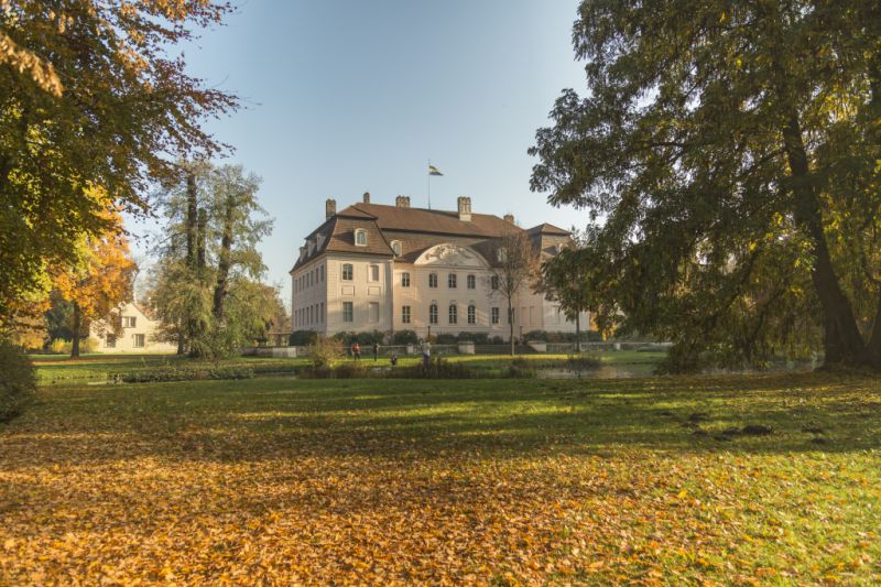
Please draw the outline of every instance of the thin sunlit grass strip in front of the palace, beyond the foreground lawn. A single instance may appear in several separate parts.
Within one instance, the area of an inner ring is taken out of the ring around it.
[[[591,355],[601,362],[601,369],[596,374],[601,377],[649,376],[657,363],[664,358],[663,352],[616,351]],[[492,374],[507,369],[511,365],[511,357],[507,355],[449,355],[445,356],[450,361],[461,361],[469,367]],[[565,366],[567,355],[521,355],[519,359],[526,361],[535,369],[559,369]],[[174,355],[89,355],[80,359],[53,355],[36,355],[33,357],[36,374],[41,384],[70,383],[89,380],[106,380],[110,373],[143,373],[162,369],[166,366],[193,366],[199,361],[177,357]],[[350,359],[341,359],[348,361]],[[416,365],[422,360],[418,356],[401,357],[399,365]],[[214,365],[211,361],[205,361]],[[374,365],[372,357],[362,359],[365,365]],[[308,358],[263,358],[240,357],[225,359],[219,365],[228,368],[248,368],[257,374],[291,373],[309,363]],[[380,357],[378,366],[389,366],[388,357]]]

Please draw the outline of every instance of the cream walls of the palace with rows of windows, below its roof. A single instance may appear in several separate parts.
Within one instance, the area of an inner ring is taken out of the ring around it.
[[[291,275],[294,330],[326,336],[414,330],[421,337],[464,331],[509,337],[508,301],[492,289],[490,263],[470,247],[444,242],[413,262],[326,251]],[[575,331],[559,307],[529,284],[513,309],[515,337],[532,330]]]

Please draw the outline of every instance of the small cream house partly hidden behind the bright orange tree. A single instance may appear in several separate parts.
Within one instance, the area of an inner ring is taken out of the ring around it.
[[[171,354],[177,347],[172,343],[156,340],[159,322],[151,319],[134,303],[129,302],[115,311],[120,327],[115,331],[106,322],[95,320],[89,326],[89,336],[98,340],[95,352],[106,354]]]

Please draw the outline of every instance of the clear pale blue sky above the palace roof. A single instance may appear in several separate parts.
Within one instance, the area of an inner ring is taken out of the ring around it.
[[[243,100],[207,128],[235,146],[229,161],[263,177],[275,229],[262,252],[284,300],[326,198],[345,207],[363,192],[378,204],[404,194],[425,206],[428,159],[445,174],[432,178],[435,208],[464,195],[524,227],[586,224],[530,192],[526,154],[561,90],[585,86],[570,44],[577,4],[242,0],[185,48],[191,74]]]

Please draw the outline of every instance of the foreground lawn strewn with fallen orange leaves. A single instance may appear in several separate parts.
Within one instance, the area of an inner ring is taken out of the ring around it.
[[[872,584],[879,433],[831,374],[55,385],[0,584]]]

